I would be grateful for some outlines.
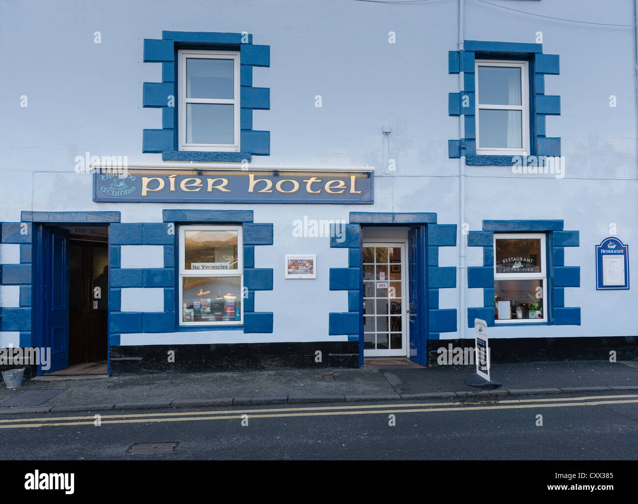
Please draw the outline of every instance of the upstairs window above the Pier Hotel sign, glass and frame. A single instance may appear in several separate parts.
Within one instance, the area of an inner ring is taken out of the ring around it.
[[[239,152],[239,52],[179,52],[179,149]]]

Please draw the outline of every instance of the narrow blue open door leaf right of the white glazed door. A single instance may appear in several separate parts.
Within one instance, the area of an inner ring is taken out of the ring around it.
[[[424,226],[408,232],[408,317],[410,319],[410,359],[426,365],[427,339],[427,256]]]

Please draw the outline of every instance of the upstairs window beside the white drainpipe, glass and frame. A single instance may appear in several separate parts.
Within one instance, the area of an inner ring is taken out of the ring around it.
[[[530,154],[528,64],[477,61],[477,154]]]

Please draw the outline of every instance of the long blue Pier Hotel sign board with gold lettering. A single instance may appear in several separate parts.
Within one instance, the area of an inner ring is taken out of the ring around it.
[[[93,201],[372,204],[373,170],[101,169]]]

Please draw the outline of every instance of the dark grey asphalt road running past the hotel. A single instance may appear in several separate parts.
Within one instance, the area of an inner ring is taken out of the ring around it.
[[[638,394],[98,413],[99,426],[94,413],[2,415],[0,460],[638,459]],[[172,452],[128,453],[169,441]]]

